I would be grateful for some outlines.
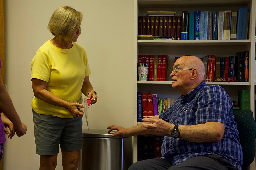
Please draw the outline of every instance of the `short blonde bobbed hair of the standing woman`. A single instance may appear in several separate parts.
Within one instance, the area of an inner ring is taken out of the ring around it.
[[[69,6],[62,6],[53,12],[48,29],[54,36],[68,39],[79,28],[82,19],[83,15],[81,12]]]

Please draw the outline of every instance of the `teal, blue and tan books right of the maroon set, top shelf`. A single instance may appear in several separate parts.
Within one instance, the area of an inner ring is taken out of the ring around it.
[[[189,40],[243,40],[248,37],[249,12],[246,7],[238,11],[195,11],[188,15]]]

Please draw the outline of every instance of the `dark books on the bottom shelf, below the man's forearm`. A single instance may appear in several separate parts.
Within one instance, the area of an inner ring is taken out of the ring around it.
[[[138,161],[161,157],[161,146],[164,137],[156,135],[138,136]]]

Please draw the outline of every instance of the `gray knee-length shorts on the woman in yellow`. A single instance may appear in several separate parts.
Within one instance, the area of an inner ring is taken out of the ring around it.
[[[56,155],[83,148],[82,118],[60,118],[36,113],[33,109],[36,154]]]

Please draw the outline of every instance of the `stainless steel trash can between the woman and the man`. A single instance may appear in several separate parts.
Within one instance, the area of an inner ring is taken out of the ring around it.
[[[132,138],[112,137],[107,129],[84,129],[79,170],[127,170],[132,163]]]

